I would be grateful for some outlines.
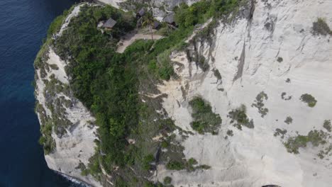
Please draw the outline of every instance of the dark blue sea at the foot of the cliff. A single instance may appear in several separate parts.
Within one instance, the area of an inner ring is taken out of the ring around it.
[[[33,112],[33,60],[74,0],[0,0],[0,187],[77,186],[48,169]]]

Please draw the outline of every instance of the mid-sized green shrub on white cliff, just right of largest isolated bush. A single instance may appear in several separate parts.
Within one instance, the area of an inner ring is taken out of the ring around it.
[[[238,130],[242,130],[242,125],[247,128],[254,128],[253,120],[249,120],[248,116],[245,114],[246,110],[245,106],[241,105],[227,115],[228,118],[231,118],[231,124],[238,128]]]

